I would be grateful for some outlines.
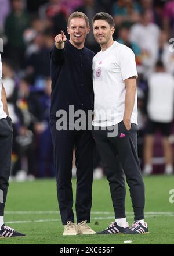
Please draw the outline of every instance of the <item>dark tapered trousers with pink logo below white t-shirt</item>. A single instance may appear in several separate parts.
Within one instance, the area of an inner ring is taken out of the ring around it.
[[[127,130],[124,122],[118,125],[118,135],[108,137],[106,130],[94,130],[93,137],[110,184],[115,218],[125,218],[125,179],[129,186],[135,220],[144,219],[144,183],[137,157],[138,126],[131,123]],[[110,131],[109,131],[110,132]]]

